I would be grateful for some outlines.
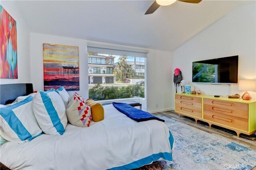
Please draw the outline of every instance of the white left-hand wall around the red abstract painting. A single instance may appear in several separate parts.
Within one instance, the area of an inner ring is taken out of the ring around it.
[[[18,79],[0,78],[0,84],[30,83],[30,35],[15,1],[1,1],[2,7],[17,22]]]

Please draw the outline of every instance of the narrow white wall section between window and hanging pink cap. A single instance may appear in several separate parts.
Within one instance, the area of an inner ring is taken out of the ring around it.
[[[171,110],[172,99],[172,53],[150,49],[147,58],[148,111],[156,113]],[[158,105],[158,107],[156,107]]]

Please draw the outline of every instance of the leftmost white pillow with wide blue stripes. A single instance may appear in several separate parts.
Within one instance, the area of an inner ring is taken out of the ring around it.
[[[1,136],[7,141],[22,143],[41,135],[32,109],[32,96],[9,106],[1,106]]]

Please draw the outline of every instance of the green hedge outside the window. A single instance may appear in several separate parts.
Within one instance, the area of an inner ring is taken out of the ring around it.
[[[116,86],[103,87],[96,84],[93,88],[89,89],[89,98],[93,100],[110,100],[122,98],[144,98],[144,86],[129,85],[118,88]]]

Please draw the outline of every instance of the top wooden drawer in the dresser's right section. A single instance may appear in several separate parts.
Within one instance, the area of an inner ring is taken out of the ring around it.
[[[213,105],[215,107],[220,107],[224,109],[233,109],[233,110],[242,110],[248,112],[248,104],[239,103],[239,102],[229,102],[223,100],[215,100],[215,99],[203,99],[204,104]]]

